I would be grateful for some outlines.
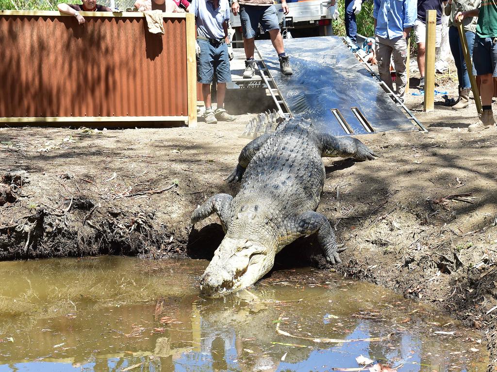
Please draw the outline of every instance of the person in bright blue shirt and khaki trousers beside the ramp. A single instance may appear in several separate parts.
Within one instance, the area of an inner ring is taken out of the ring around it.
[[[395,93],[404,100],[407,85],[407,38],[417,18],[416,0],[374,0],[376,58],[382,81],[393,91],[390,59],[395,67]]]

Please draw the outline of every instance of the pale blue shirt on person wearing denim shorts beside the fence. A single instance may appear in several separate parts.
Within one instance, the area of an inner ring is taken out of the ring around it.
[[[230,3],[219,0],[219,7],[214,8],[212,0],[193,0],[192,12],[197,17],[197,35],[208,39],[225,37],[223,23],[230,20]]]

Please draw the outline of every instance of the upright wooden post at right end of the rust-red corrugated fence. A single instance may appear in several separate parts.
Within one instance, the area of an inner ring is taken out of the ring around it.
[[[188,126],[197,126],[197,57],[195,54],[195,15],[186,13],[186,83]]]

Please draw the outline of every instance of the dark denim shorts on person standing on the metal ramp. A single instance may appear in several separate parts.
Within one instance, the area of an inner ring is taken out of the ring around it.
[[[255,37],[259,23],[264,31],[279,29],[278,13],[274,5],[242,5],[240,4],[240,20],[244,38]]]

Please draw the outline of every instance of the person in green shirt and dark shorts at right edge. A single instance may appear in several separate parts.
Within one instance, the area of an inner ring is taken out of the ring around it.
[[[480,96],[483,113],[478,122],[468,130],[479,131],[496,125],[492,112],[494,78],[497,77],[497,0],[484,0],[480,9],[472,9],[456,14],[456,21],[464,22],[468,17],[478,17],[473,46],[473,75],[482,79]]]

